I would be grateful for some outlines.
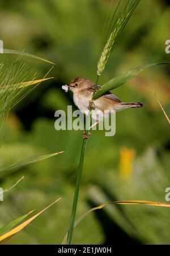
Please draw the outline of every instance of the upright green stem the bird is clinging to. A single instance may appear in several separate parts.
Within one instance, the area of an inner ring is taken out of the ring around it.
[[[94,89],[93,96],[94,96],[94,94],[96,92],[96,86],[97,86],[98,81],[99,81],[99,75],[97,75],[97,78],[96,78],[96,84],[95,84],[95,89]],[[91,112],[91,110],[90,110],[90,112]],[[90,113],[88,115],[90,115]],[[90,121],[90,124],[91,124],[91,121]],[[90,127],[86,128],[87,136],[89,135],[89,129],[90,129]],[[78,197],[79,197],[80,180],[81,180],[81,177],[82,177],[84,155],[85,155],[85,152],[86,152],[86,146],[87,146],[87,139],[83,139],[82,151],[81,151],[81,154],[80,154],[80,161],[79,161],[78,176],[76,178],[76,186],[75,186],[75,192],[74,192],[73,208],[72,208],[72,212],[71,212],[69,232],[68,232],[68,236],[67,236],[67,245],[71,245],[72,241],[73,241],[73,232],[74,232],[76,208],[77,208]]]

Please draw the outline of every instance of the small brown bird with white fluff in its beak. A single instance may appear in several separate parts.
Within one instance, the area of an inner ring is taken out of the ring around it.
[[[88,78],[77,77],[73,81],[71,81],[70,85],[68,85],[69,89],[73,91],[73,99],[75,105],[82,111],[84,114],[87,114],[87,111],[90,110],[90,103],[92,100],[92,94],[94,92],[95,83],[92,82]],[[100,90],[100,85],[96,86],[96,91]],[[143,104],[141,102],[136,103],[124,103],[121,102],[120,99],[117,98],[111,91],[108,91],[100,98],[94,100],[94,108],[92,113],[92,118],[96,120],[96,125],[99,121],[103,121],[104,115],[98,114],[100,111],[121,111],[125,110],[126,108],[141,108]],[[97,112],[97,115],[95,113]],[[97,118],[96,118],[97,116]],[[92,125],[92,127],[94,126]],[[92,128],[91,127],[91,128]],[[88,137],[84,135],[86,139]]]

